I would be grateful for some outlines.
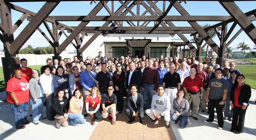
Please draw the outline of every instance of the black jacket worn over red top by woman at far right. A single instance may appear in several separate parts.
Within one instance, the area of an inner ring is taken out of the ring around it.
[[[230,92],[230,101],[233,102],[233,104],[235,103],[235,90],[236,90],[236,87],[237,87],[237,84],[234,84],[232,86],[232,89],[231,89],[231,92]],[[251,87],[249,85],[243,85],[242,88],[241,88],[241,91],[240,91],[240,94],[239,94],[239,97],[238,97],[238,104],[239,105],[243,105],[243,103],[246,103],[249,105],[249,100],[250,100],[250,97],[251,97]]]

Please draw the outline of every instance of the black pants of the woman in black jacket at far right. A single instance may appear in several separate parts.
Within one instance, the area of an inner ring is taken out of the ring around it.
[[[234,106],[233,108],[233,119],[231,123],[231,130],[237,131],[240,133],[244,132],[244,125],[245,125],[245,110],[242,109],[242,107]]]

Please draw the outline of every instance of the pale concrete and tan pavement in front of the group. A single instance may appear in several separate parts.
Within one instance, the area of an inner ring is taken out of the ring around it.
[[[11,112],[9,103],[3,102],[6,99],[5,92],[0,93],[0,139],[171,139],[171,140],[187,140],[187,139],[224,139],[224,140],[245,140],[256,138],[256,90],[252,89],[252,96],[249,108],[245,115],[244,133],[235,134],[230,132],[231,122],[224,121],[224,129],[218,130],[217,120],[213,123],[204,123],[203,120],[208,118],[207,113],[198,115],[199,120],[194,120],[190,117],[191,124],[185,129],[180,129],[179,125],[171,122],[171,128],[166,129],[164,120],[161,119],[155,125],[151,123],[148,116],[145,116],[143,125],[137,120],[132,124],[127,124],[128,118],[124,112],[117,114],[117,123],[111,125],[110,121],[101,119],[96,121],[94,126],[91,126],[91,119],[86,117],[86,123],[80,124],[77,127],[67,126],[60,129],[55,128],[55,121],[47,119],[40,120],[38,125],[33,123],[26,125],[23,130],[17,130],[14,127],[14,116]],[[44,109],[45,115],[45,109]],[[216,114],[215,114],[216,115]],[[217,116],[215,116],[217,118]],[[28,116],[31,121],[32,117]],[[174,136],[173,136],[174,134]]]

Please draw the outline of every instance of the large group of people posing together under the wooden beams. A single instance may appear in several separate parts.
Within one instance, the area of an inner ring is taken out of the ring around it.
[[[218,129],[223,129],[224,120],[229,120],[230,131],[243,132],[251,89],[235,68],[235,62],[228,66],[225,60],[220,67],[208,56],[201,63],[194,56],[179,59],[161,55],[155,59],[127,55],[119,59],[98,54],[95,59],[87,57],[85,61],[78,56],[74,56],[74,61],[53,60],[53,65],[49,58],[47,65],[41,67],[41,74],[27,67],[26,59],[21,59],[21,67],[14,70],[6,90],[15,127],[24,129],[24,124],[30,123],[29,104],[35,125],[40,119],[56,119],[57,129],[69,122],[73,126],[83,124],[88,115],[91,125],[101,117],[114,125],[116,114],[121,114],[124,107],[128,123],[136,117],[143,123],[148,115],[152,123],[163,117],[166,128],[172,120],[175,124],[180,122],[183,129],[190,123],[189,116],[198,120],[201,106],[202,113],[209,114],[204,122],[213,122],[216,109]],[[44,102],[46,117],[42,113]]]

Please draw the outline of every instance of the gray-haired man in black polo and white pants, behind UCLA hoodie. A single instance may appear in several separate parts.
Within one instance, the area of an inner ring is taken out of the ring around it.
[[[171,100],[171,106],[173,100],[176,98],[176,93],[181,88],[181,78],[180,75],[174,71],[175,65],[171,63],[169,66],[170,72],[166,73],[163,77],[163,86],[165,87],[165,93]],[[174,113],[173,108],[171,108],[171,114]]]

